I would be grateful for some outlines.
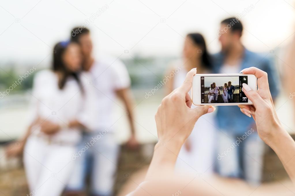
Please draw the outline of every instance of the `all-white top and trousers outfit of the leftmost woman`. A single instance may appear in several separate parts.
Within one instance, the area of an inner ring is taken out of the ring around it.
[[[49,70],[37,73],[32,90],[32,120],[40,117],[63,124],[77,119],[94,129],[93,90],[83,77],[81,83],[83,95],[73,78],[60,90],[55,73]],[[39,126],[32,128],[24,147],[24,168],[30,192],[61,195],[73,172],[73,154],[77,153],[76,144],[80,140],[81,131],[77,128],[63,128],[52,136],[41,133]]]

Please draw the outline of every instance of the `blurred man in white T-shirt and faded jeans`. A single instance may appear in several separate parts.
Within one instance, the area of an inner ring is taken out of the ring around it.
[[[119,148],[114,140],[113,125],[118,119],[113,119],[113,106],[116,96],[124,103],[129,118],[131,137],[127,145],[131,148],[138,146],[135,139],[135,128],[133,123],[133,98],[130,91],[130,78],[124,64],[118,59],[115,61],[105,61],[104,59],[94,59],[92,56],[92,40],[90,31],[87,28],[77,27],[71,31],[71,40],[80,44],[83,53],[83,69],[89,72],[89,84],[96,88],[96,98],[98,111],[96,114],[97,124],[100,129],[95,133],[84,135],[81,143],[81,150],[86,143],[91,144],[85,152],[77,157],[77,169],[73,171],[73,176],[69,182],[68,190],[79,192],[83,190],[85,183],[85,170],[88,160],[91,161],[91,194],[92,195],[113,195],[114,177],[117,169],[117,158]],[[118,105],[118,104],[117,104]],[[93,144],[94,143],[94,144]],[[92,145],[93,144],[93,145]]]

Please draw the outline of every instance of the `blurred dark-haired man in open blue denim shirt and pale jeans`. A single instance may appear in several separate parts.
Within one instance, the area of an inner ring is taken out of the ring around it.
[[[243,26],[236,18],[221,22],[218,32],[222,50],[214,55],[215,73],[239,73],[255,66],[268,73],[273,99],[278,95],[278,76],[266,56],[247,50],[242,42]],[[230,84],[229,84],[230,85]],[[229,93],[229,98],[230,93]],[[240,108],[227,106],[217,111],[219,145],[217,171],[222,176],[239,177],[249,182],[261,180],[263,144],[257,136],[254,120],[240,113]],[[250,134],[249,134],[250,133]]]

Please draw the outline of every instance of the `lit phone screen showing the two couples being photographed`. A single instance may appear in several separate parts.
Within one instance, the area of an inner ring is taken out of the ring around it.
[[[248,103],[242,83],[248,76],[201,76],[201,103]]]

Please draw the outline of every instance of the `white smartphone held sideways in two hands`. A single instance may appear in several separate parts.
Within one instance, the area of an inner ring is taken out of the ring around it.
[[[246,83],[257,91],[257,78],[253,74],[196,74],[191,88],[194,105],[252,105],[242,91]]]

